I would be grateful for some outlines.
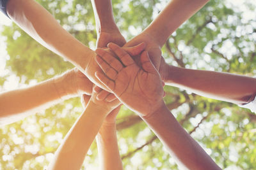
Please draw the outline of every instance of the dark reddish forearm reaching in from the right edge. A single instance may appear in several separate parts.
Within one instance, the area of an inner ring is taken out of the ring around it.
[[[190,90],[221,101],[244,104],[256,94],[256,78],[216,71],[203,71],[168,66],[166,85]]]

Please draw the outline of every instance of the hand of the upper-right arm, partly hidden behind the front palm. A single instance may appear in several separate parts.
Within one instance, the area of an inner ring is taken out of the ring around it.
[[[150,60],[156,67],[157,71],[160,67],[160,61],[161,61],[161,46],[157,44],[156,41],[154,41],[153,38],[150,37],[149,34],[145,32],[141,32],[138,36],[132,38],[129,42],[127,42],[124,46],[134,46],[138,45],[139,43],[144,42],[146,44],[145,50],[148,52],[148,55],[150,57]],[[140,59],[137,59],[140,60]],[[136,63],[138,63],[136,60]]]

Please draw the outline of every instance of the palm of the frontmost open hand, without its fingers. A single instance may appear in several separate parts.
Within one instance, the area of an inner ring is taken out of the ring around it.
[[[163,97],[159,74],[147,73],[135,64],[117,74],[113,92],[122,103],[141,116],[152,113],[157,101]]]

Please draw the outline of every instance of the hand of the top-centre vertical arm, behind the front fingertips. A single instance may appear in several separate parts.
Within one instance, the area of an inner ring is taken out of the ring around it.
[[[116,43],[119,46],[124,46],[126,41],[119,31],[100,32],[97,38],[97,47],[107,47],[108,43]]]

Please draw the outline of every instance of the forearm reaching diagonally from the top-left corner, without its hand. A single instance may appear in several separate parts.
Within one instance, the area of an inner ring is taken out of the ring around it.
[[[72,62],[83,70],[87,58],[93,55],[45,10],[33,0],[9,0],[7,13],[24,31],[52,52]]]

